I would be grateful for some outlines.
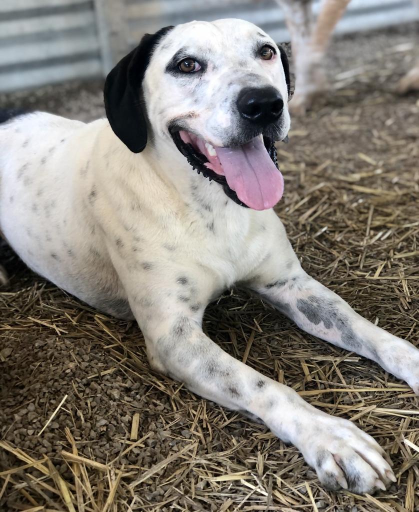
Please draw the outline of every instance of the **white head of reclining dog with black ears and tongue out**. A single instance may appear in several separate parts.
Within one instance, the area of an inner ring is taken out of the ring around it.
[[[104,101],[134,153],[147,132],[171,139],[234,201],[274,206],[283,193],[274,142],[289,130],[288,60],[252,23],[191,22],[146,34],[109,73]]]

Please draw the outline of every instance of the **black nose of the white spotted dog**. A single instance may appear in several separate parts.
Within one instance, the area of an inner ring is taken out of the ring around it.
[[[284,102],[275,87],[246,88],[237,98],[237,108],[241,117],[264,126],[278,120]]]

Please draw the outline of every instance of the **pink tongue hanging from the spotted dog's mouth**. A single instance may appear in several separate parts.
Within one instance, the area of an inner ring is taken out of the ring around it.
[[[239,147],[216,147],[228,186],[255,210],[275,206],[284,192],[284,178],[260,137]]]

